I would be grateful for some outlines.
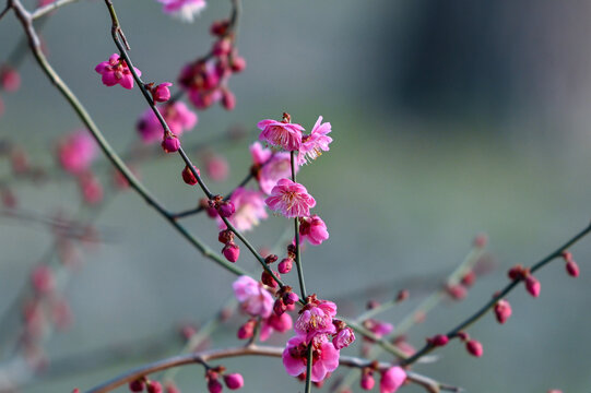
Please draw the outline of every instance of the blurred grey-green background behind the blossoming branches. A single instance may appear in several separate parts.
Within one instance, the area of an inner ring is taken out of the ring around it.
[[[209,25],[228,14],[229,1],[209,3],[193,24],[182,24],[155,1],[115,1],[144,80],[175,82],[180,67],[209,50]],[[298,179],[318,201],[316,211],[331,235],[304,254],[307,287],[322,298],[343,299],[344,314],[362,310],[365,289],[383,285],[388,290],[377,296],[383,300],[412,284],[412,300],[385,315],[395,325],[463,259],[474,235],[488,234],[498,269],[466,300],[444,302],[416,326],[410,341],[418,347],[488,300],[506,284],[508,267],[536,262],[588,224],[590,16],[589,2],[248,0],[238,38],[248,67],[229,83],[237,107],[200,111],[184,143],[234,124],[253,130],[282,111],[308,129],[319,115],[332,123],[330,152],[304,167]],[[109,29],[102,1],[80,1],[49,17],[43,36],[56,70],[123,151],[138,138],[134,123],[145,103],[138,91],[105,87],[93,70],[116,51]],[[21,36],[7,15],[0,60]],[[22,88],[2,95],[0,135],[25,145],[32,160],[50,168],[56,139],[81,123],[29,56],[21,72]],[[245,176],[255,139],[251,133],[232,146],[212,147],[232,168],[226,182],[212,183],[215,192],[231,190]],[[145,184],[178,210],[201,196],[179,181],[180,169],[176,156],[141,167]],[[8,166],[2,170],[8,174]],[[76,187],[66,179],[43,187],[23,182],[14,191],[23,207],[48,215],[58,209],[74,214],[79,205]],[[211,221],[187,223],[218,248]],[[14,221],[0,225],[3,312],[51,237]],[[272,245],[285,225],[271,217],[250,238]],[[117,196],[97,226],[110,241],[87,257],[68,285],[75,323],[47,342],[49,358],[140,337],[147,337],[146,346],[168,340],[167,349],[39,380],[23,392],[84,391],[173,355],[180,345],[163,332],[211,315],[231,295],[234,276],[204,260],[137,194]],[[487,315],[470,330],[483,343],[482,358],[452,342],[438,353],[439,361],[415,371],[469,392],[588,392],[589,239],[572,251],[579,279],[556,261],[536,275],[539,299],[522,288],[509,296],[513,317],[506,325]],[[257,269],[246,250],[238,263]],[[287,277],[296,284],[295,273]],[[214,342],[235,345],[239,320],[216,332]],[[248,392],[303,390],[274,359],[224,365],[245,374]],[[177,380],[186,392],[205,391],[201,368],[187,367]]]

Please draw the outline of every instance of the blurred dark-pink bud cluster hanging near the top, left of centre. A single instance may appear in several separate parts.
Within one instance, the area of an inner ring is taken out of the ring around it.
[[[229,20],[214,22],[211,33],[216,40],[210,53],[185,66],[178,81],[198,109],[221,102],[224,108],[232,110],[236,106],[236,97],[227,86],[228,80],[246,68],[246,60],[238,55]]]

